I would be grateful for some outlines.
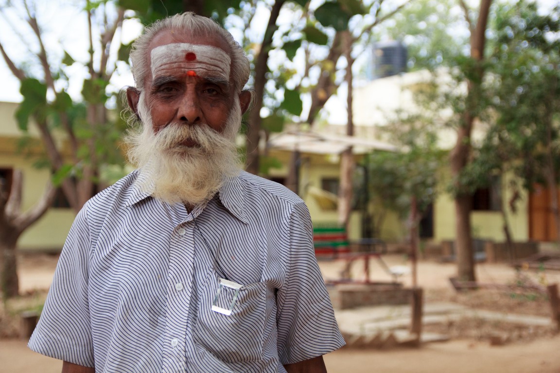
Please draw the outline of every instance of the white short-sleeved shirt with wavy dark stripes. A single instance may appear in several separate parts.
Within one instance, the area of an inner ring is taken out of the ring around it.
[[[97,373],[256,373],[343,346],[299,197],[241,172],[188,213],[138,177],[78,214],[31,350]],[[216,296],[220,278],[239,293]]]

